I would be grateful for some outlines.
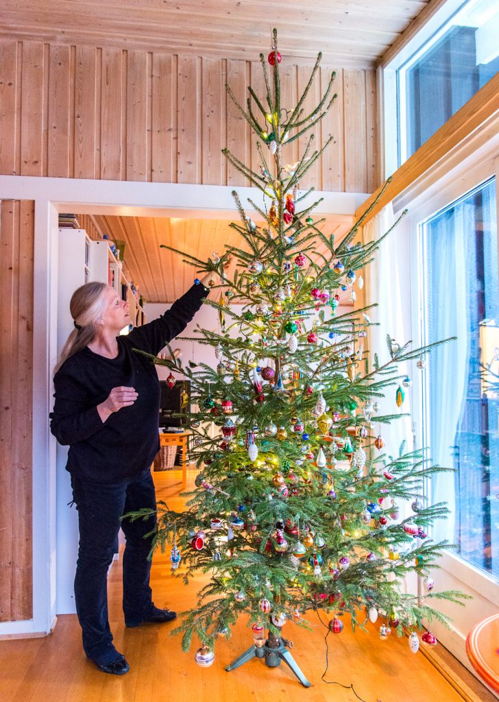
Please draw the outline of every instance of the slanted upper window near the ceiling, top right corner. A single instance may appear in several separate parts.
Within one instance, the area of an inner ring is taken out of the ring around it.
[[[469,0],[397,69],[398,165],[499,70],[497,0]]]

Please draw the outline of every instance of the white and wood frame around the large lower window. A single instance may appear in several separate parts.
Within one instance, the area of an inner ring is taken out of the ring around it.
[[[463,152],[465,147],[461,147]],[[405,291],[408,314],[411,315],[411,338],[413,344],[419,346],[423,343],[423,324],[425,322],[423,310],[423,276],[421,267],[424,263],[423,256],[423,227],[421,223],[433,216],[446,206],[459,199],[477,185],[484,183],[495,176],[496,188],[496,217],[498,218],[499,231],[499,134],[491,138],[485,145],[478,147],[467,157],[452,154],[446,164],[440,166],[440,177],[435,173],[425,173],[415,187],[409,192],[402,193],[394,201],[394,213],[397,217],[404,208],[409,208],[408,216],[402,223],[401,236],[406,239],[411,260],[410,285]],[[442,175],[444,173],[444,175]],[[397,234],[396,234],[397,235]],[[499,239],[498,239],[499,242]],[[499,243],[498,243],[499,247]],[[499,275],[499,270],[498,270]],[[430,357],[431,363],[431,357]],[[421,371],[416,369],[415,362],[411,368],[414,380],[412,386],[411,415],[413,418],[413,432],[416,446],[424,446],[423,420],[424,420],[424,383],[427,377],[421,377]],[[430,481],[426,481],[425,491],[430,497]],[[438,534],[435,536],[438,537]],[[439,590],[458,589],[474,597],[467,607],[446,607],[442,610],[451,616],[453,624],[447,630],[439,623],[432,623],[431,630],[444,646],[453,653],[463,665],[474,673],[465,651],[465,638],[470,627],[492,613],[499,607],[499,583],[496,578],[488,575],[486,571],[479,570],[467,562],[463,557],[446,552],[439,559],[440,569],[435,573],[435,581]],[[422,592],[422,588],[420,588]],[[473,604],[475,603],[475,604]],[[440,609],[440,605],[433,603]],[[476,675],[476,673],[474,673]]]

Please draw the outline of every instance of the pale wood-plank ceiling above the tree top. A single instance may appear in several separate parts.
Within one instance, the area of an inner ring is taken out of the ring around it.
[[[3,0],[0,34],[255,60],[270,28],[293,60],[371,67],[429,0]]]

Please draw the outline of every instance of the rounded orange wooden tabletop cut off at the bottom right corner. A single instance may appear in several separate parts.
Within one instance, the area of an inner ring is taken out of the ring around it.
[[[481,679],[499,692],[499,614],[472,628],[466,639],[466,653]]]

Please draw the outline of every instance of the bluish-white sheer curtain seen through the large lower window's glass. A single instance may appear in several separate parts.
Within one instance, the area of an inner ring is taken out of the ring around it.
[[[457,432],[464,409],[463,397],[470,355],[467,305],[467,239],[474,231],[472,208],[460,204],[432,220],[425,227],[423,267],[427,272],[425,305],[427,329],[432,343],[449,336],[457,340],[437,347],[428,360],[428,401],[432,462],[454,468],[459,455]],[[463,408],[463,409],[462,409]],[[438,538],[455,541],[455,475],[439,473],[432,477],[432,502],[447,502],[448,519],[437,524]]]

